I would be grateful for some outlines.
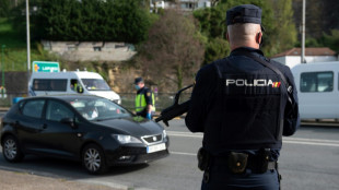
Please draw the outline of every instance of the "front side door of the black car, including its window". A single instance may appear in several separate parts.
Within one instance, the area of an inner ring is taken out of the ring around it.
[[[82,133],[79,133],[79,126],[72,127],[70,122],[62,122],[66,118],[75,121],[74,110],[61,100],[49,99],[46,105],[45,129],[40,132],[40,139],[49,154],[74,157],[80,152]]]

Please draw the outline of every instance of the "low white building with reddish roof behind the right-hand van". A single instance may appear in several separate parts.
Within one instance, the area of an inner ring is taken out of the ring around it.
[[[290,50],[287,50],[284,52],[271,57],[271,59],[282,64],[285,64],[290,68],[293,68],[294,66],[301,63],[301,55],[302,55],[301,48],[292,48]],[[305,48],[305,60],[306,63],[337,61],[338,55],[327,47]]]

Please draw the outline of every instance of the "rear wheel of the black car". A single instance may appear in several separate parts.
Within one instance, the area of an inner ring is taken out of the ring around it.
[[[17,163],[24,158],[20,144],[13,135],[7,135],[2,144],[2,154],[5,161],[10,163]]]

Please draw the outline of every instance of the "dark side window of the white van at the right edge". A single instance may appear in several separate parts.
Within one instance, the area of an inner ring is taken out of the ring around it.
[[[332,92],[334,72],[304,72],[301,74],[301,92]]]

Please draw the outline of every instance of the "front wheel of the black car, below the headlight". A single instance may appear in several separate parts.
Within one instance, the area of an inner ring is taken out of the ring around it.
[[[89,144],[83,149],[82,163],[90,174],[97,175],[107,171],[104,151],[96,144]]]

